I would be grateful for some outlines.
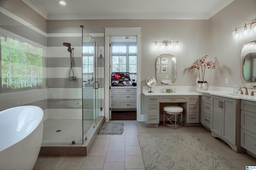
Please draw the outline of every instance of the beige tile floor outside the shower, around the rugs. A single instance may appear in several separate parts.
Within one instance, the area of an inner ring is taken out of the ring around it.
[[[147,133],[193,133],[239,170],[256,166],[256,158],[235,152],[204,127],[182,126],[175,130],[162,124],[145,127],[138,121],[124,121],[124,125],[123,135],[98,135],[88,156],[39,156],[34,170],[144,170],[137,135]]]

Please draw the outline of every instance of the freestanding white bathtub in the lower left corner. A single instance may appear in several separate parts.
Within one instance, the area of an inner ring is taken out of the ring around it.
[[[43,138],[43,110],[19,106],[0,111],[0,170],[32,170]]]

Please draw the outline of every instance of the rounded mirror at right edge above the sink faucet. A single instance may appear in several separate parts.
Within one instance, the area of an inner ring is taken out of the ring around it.
[[[255,42],[246,43],[241,50],[241,78],[245,86],[256,88],[256,46]]]

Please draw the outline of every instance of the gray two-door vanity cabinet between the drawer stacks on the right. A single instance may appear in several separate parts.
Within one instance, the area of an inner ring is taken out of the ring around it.
[[[212,95],[212,136],[226,141],[236,152],[240,147],[240,100]]]

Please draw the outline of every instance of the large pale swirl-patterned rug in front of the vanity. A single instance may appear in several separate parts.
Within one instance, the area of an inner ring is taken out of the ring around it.
[[[146,170],[237,170],[192,134],[138,135]]]

